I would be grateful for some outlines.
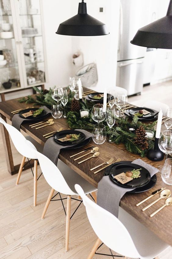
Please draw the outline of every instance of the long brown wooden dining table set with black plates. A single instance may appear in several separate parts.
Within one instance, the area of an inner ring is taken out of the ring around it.
[[[19,103],[18,98],[8,100],[8,101],[3,101],[3,102],[0,102],[0,115],[3,119],[5,120],[9,119],[11,121],[13,117],[13,114],[11,113],[11,111],[15,111],[20,108],[26,108],[27,106],[32,107],[32,105],[33,104]],[[47,120],[49,118],[52,118],[51,114],[48,117],[46,117]],[[21,125],[21,130],[27,133],[29,136],[31,136],[39,144],[44,145],[45,142],[47,141],[47,139],[43,137],[44,134],[52,132],[54,130],[58,130],[60,127],[63,127],[63,130],[66,130],[69,128],[69,125],[67,124],[67,121],[64,118],[54,119],[54,121],[55,123],[52,126],[43,127],[39,130],[35,130],[35,128],[29,127],[30,125],[29,122],[23,122]],[[165,130],[165,126],[162,126],[162,130],[163,129]],[[13,163],[13,154],[11,151],[9,135],[6,129],[4,128],[4,126],[2,126],[2,124],[1,124],[1,130],[2,130],[2,140],[5,148],[5,156],[6,156],[8,171],[10,174],[13,175],[18,172],[20,165],[14,165]],[[114,161],[116,161],[118,158],[120,158],[122,161],[133,161],[135,159],[141,158],[139,155],[129,153],[123,144],[116,145],[114,143],[109,144],[107,142],[103,143],[102,145],[99,145],[100,155],[96,158],[90,159],[81,164],[78,164],[78,161],[74,161],[74,158],[70,158],[70,156],[72,156],[73,154],[80,152],[85,148],[88,148],[91,146],[96,146],[95,143],[92,141],[92,139],[87,145],[79,149],[72,149],[72,150],[65,150],[65,148],[61,149],[59,153],[59,159],[62,160],[64,163],[66,163],[70,168],[76,171],[79,175],[81,175],[84,179],[86,179],[89,183],[91,183],[95,187],[98,186],[99,181],[104,176],[105,170],[102,170],[99,173],[94,174],[93,173],[94,171],[90,171],[92,167],[95,167],[100,163],[108,161],[111,157],[114,158]],[[153,162],[147,159],[146,157],[143,157],[141,159],[154,167],[158,167],[160,165],[163,165],[164,163],[164,160],[160,162]],[[27,169],[28,166],[29,166],[28,164],[24,166],[24,169]],[[145,207],[150,202],[152,202],[153,200],[159,197],[159,194],[156,194],[155,197],[149,199],[148,201],[144,202],[142,205],[136,207],[136,204],[139,201],[143,200],[145,197],[147,197],[157,189],[166,187],[172,192],[172,186],[166,185],[162,181],[161,174],[157,173],[156,176],[157,176],[156,185],[151,190],[148,190],[143,193],[126,193],[120,201],[120,206],[129,214],[131,214],[134,218],[136,218],[138,221],[144,224],[153,233],[155,233],[160,239],[162,239],[164,242],[172,246],[172,220],[171,220],[172,206],[166,206],[166,208],[164,208],[161,212],[157,213],[155,216],[151,218],[149,215],[164,204],[165,200],[163,199],[163,200],[160,200],[155,205],[153,205],[152,207],[150,207],[148,210],[142,212],[143,207]],[[130,222],[128,222],[128,224],[130,224]]]

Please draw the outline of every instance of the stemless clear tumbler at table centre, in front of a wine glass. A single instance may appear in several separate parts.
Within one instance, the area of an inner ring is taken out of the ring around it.
[[[103,124],[95,124],[92,133],[92,139],[97,145],[101,145],[106,140],[106,128]]]

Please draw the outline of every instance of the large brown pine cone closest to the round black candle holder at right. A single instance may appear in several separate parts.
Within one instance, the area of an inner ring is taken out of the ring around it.
[[[148,142],[146,137],[146,131],[143,126],[140,126],[136,130],[136,137],[134,138],[134,143],[141,147],[142,150],[148,148]]]

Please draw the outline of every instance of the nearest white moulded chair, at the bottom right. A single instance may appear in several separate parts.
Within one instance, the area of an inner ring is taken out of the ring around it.
[[[153,259],[169,247],[122,208],[116,218],[85,196],[81,186],[75,185],[75,189],[83,199],[88,219],[98,236],[87,259],[93,258],[102,242],[124,258]]]

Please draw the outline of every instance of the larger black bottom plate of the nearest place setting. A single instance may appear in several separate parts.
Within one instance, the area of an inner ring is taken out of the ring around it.
[[[131,162],[132,162],[132,161],[121,161],[121,162],[118,162],[118,163],[116,163],[116,164],[131,163]],[[106,176],[106,175],[109,175],[109,172],[110,172],[110,169],[111,169],[112,166],[113,166],[113,165],[111,165],[111,166],[109,166],[109,167],[106,168],[105,173],[104,173],[105,176]],[[110,178],[110,179],[111,179],[111,178]],[[135,188],[134,190],[132,190],[132,191],[130,191],[130,192],[128,192],[128,193],[143,193],[143,192],[146,192],[146,191],[152,189],[153,186],[155,186],[156,181],[157,181],[157,177],[156,177],[156,175],[153,175],[153,176],[151,177],[150,181],[149,181],[146,185],[144,185],[144,186],[142,186],[142,187]]]

